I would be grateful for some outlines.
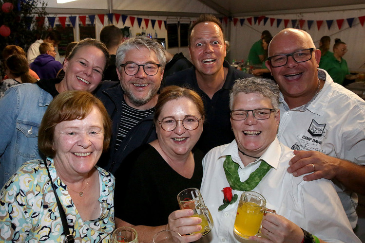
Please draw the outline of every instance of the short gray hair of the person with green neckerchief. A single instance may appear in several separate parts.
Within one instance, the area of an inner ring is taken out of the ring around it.
[[[272,107],[276,111],[279,110],[279,86],[271,79],[258,77],[236,79],[230,92],[230,109],[233,107],[234,98],[241,92],[262,94],[271,100]]]

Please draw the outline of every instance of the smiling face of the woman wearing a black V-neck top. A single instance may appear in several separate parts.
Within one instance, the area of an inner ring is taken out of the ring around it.
[[[202,117],[192,100],[183,97],[167,102],[161,109],[158,121],[170,116],[176,121],[183,120],[189,115],[198,119]],[[176,128],[170,132],[163,130],[161,125],[156,123],[157,139],[163,152],[170,158],[189,155],[203,132],[203,122],[204,118],[195,130],[187,130],[182,121],[177,121]]]

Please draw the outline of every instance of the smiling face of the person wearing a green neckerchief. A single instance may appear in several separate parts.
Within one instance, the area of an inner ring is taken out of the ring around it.
[[[273,108],[269,98],[260,93],[238,93],[233,100],[232,110],[254,110],[258,108]],[[249,112],[243,121],[231,119],[234,137],[239,150],[250,156],[261,156],[276,137],[280,121],[280,111],[270,113],[270,118],[257,120]]]

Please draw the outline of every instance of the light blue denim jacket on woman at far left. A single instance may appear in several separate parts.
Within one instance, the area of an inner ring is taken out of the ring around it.
[[[0,188],[24,162],[40,157],[38,128],[52,100],[37,84],[10,87],[0,99]]]

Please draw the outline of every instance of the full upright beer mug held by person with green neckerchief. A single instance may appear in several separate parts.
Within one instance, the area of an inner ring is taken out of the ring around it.
[[[275,210],[266,208],[266,199],[255,191],[245,191],[238,203],[234,233],[248,240],[250,236],[261,231],[261,222],[264,213],[274,213]]]

